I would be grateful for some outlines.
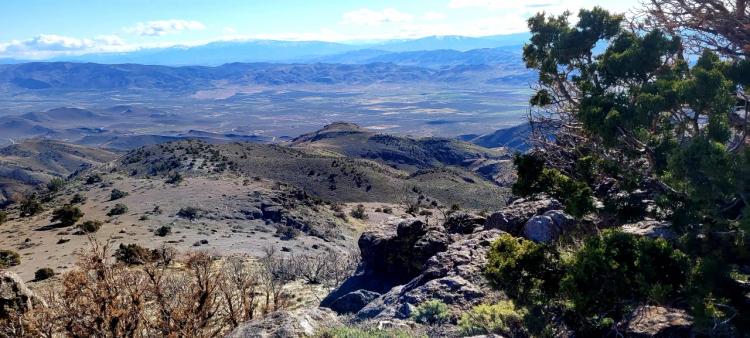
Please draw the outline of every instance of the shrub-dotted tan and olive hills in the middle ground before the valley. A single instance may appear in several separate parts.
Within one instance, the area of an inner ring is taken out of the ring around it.
[[[351,138],[334,136],[347,133]],[[358,144],[363,137],[374,139]],[[17,204],[6,209],[0,246],[24,256],[15,269],[24,278],[40,267],[71,268],[87,238],[50,221],[55,209],[71,203],[82,211],[81,221],[102,222],[95,235],[100,240],[255,257],[269,246],[295,253],[349,247],[364,229],[404,217],[409,208],[432,219],[453,204],[469,210],[505,205],[507,188],[464,165],[501,152],[458,141],[386,137],[337,123],[288,144],[179,140],[119,155],[49,140],[8,146],[0,149],[4,191],[52,177],[66,183],[40,194],[38,214],[21,217]],[[339,149],[347,153],[335,152],[323,140],[350,145]],[[410,154],[415,161],[399,160]],[[125,194],[115,198],[114,190]],[[127,210],[112,214],[118,204]],[[360,204],[367,217],[349,216]],[[193,211],[186,216],[185,210]],[[163,226],[170,234],[155,235]]]

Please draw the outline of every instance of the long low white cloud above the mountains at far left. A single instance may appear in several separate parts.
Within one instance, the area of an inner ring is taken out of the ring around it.
[[[54,34],[40,34],[28,40],[0,43],[0,55],[22,58],[44,58],[59,55],[76,55],[96,52],[131,50],[117,35],[94,38],[74,38]]]

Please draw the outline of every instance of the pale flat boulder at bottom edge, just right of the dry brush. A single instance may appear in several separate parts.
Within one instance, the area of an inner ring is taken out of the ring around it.
[[[243,323],[228,337],[314,337],[322,329],[341,325],[336,313],[326,308],[277,311],[265,318]]]

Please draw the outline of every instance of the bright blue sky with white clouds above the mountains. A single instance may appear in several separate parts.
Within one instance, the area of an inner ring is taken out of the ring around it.
[[[526,31],[537,12],[638,0],[0,0],[0,57],[43,59],[213,41],[364,42]]]

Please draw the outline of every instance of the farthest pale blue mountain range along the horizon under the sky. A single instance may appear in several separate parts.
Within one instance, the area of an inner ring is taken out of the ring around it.
[[[45,61],[95,62],[106,64],[139,63],[150,65],[204,65],[216,66],[231,62],[281,62],[309,63],[339,54],[368,50],[382,53],[453,50],[465,52],[474,49],[513,47],[520,50],[529,38],[528,33],[487,37],[430,36],[411,40],[388,40],[377,43],[335,43],[323,41],[218,41],[199,46],[173,46],[141,49],[123,53],[99,53],[80,56],[57,57]],[[382,55],[378,55],[382,56]],[[2,59],[0,63],[28,61]],[[356,62],[359,63],[359,62]]]

